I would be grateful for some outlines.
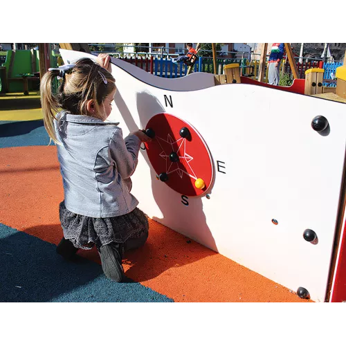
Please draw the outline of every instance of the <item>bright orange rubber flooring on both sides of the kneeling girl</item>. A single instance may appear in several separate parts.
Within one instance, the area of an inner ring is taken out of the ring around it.
[[[0,198],[1,224],[58,244],[63,189],[56,147],[1,148]],[[312,302],[156,221],[149,226],[145,246],[125,254],[125,274],[176,303]],[[78,254],[100,263],[95,249]]]

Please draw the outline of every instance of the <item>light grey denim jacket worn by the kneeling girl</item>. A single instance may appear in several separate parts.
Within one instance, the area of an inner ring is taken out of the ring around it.
[[[140,139],[122,138],[118,122],[57,113],[55,133],[65,206],[87,217],[117,217],[138,205],[130,193]]]

